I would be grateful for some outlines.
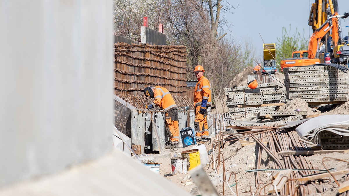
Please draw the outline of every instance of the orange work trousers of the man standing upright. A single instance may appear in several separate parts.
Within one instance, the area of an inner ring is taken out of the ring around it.
[[[195,107],[195,136],[201,138],[208,138],[208,126],[207,126],[207,111],[205,114],[200,114],[201,105]]]

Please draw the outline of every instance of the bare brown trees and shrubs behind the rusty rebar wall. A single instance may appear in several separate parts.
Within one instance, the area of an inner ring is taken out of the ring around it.
[[[224,88],[231,86],[233,78],[251,61],[251,48],[243,48],[239,40],[227,38],[224,32],[224,27],[229,28],[230,24],[222,13],[230,12],[233,7],[224,0],[125,2],[114,0],[116,32],[137,39],[140,32],[133,27],[140,29],[143,16],[149,16],[150,28],[154,30],[159,23],[164,24],[168,43],[187,47],[187,78],[195,79],[193,68],[202,65],[211,83],[214,103],[225,104]]]

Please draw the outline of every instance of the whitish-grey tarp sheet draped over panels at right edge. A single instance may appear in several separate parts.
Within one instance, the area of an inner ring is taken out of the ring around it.
[[[298,135],[304,140],[318,144],[321,131],[349,136],[349,115],[324,115],[312,118],[296,128]]]

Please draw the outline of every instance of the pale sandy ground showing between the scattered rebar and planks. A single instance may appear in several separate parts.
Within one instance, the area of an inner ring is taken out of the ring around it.
[[[249,74],[249,71],[243,71],[242,75],[244,74]],[[276,77],[282,78],[283,74],[277,73],[275,74]],[[246,78],[246,77],[240,77],[240,78]],[[246,85],[247,81],[237,81],[239,85]],[[317,106],[309,106],[304,100],[296,98],[294,100],[288,101],[283,106],[280,106],[277,111],[295,111],[299,109],[300,111],[307,111],[308,115],[329,115],[329,114],[349,114],[349,101],[344,102],[342,104],[323,104],[323,105],[317,105]],[[246,138],[244,138],[246,139]],[[214,138],[211,138],[211,141],[213,141]],[[250,141],[254,141],[251,137],[248,139]],[[211,143],[206,142],[205,143],[207,151],[212,149]],[[310,145],[311,146],[311,145]],[[313,144],[315,146],[315,144]],[[187,174],[176,174],[172,175],[172,170],[171,170],[171,160],[170,157],[172,156],[181,156],[180,152],[184,150],[189,150],[191,146],[188,146],[186,148],[180,148],[176,152],[166,152],[166,155],[159,155],[155,154],[154,156],[159,156],[159,158],[156,159],[156,162],[161,164],[160,166],[160,172],[159,175],[164,176],[167,180],[171,181],[174,184],[177,184],[177,186],[181,187],[185,191],[188,191],[189,193],[191,192],[192,195],[200,195],[200,192],[197,193],[195,191],[195,183],[191,180],[188,179],[189,172]],[[254,165],[252,167],[247,167],[247,159],[250,157],[252,154],[258,154],[258,146],[256,145],[246,145],[246,146],[241,146],[239,141],[227,143],[227,145],[224,146],[223,149],[220,149],[224,159],[225,160],[225,170],[227,174],[227,178],[229,178],[229,175],[231,172],[235,172],[237,175],[237,188],[238,188],[238,195],[252,195],[251,190],[253,193],[256,191],[256,174],[255,172],[245,172],[247,169],[256,169],[257,168],[257,161],[254,161]],[[217,149],[215,151],[217,153]],[[176,155],[175,155],[176,154]],[[211,181],[214,183],[218,193],[220,195],[233,195],[231,193],[228,185],[224,183],[224,194],[223,194],[223,184],[221,183],[220,180],[215,179],[216,171],[213,169],[214,167],[212,166],[213,161],[212,161],[212,156],[213,153],[209,155],[210,163],[203,166],[205,169],[206,173],[209,175]],[[217,156],[217,154],[215,154]],[[305,155],[306,156],[306,155]],[[324,169],[324,166],[322,165],[322,159],[324,157],[331,157],[331,158],[337,158],[337,159],[344,159],[348,160],[349,159],[349,154],[346,153],[328,153],[328,154],[313,154],[306,156],[308,160],[311,161],[312,165],[314,168],[317,169]],[[341,161],[328,161],[326,162],[326,165],[328,168],[335,167],[337,171],[341,169],[347,169],[348,163],[341,162]],[[222,167],[218,167],[218,169],[221,169]],[[261,169],[270,169],[272,168],[272,161],[271,157],[268,156],[266,151],[262,152],[262,158],[261,158],[261,164],[260,164]],[[219,174],[222,174],[222,171],[218,171]],[[260,181],[262,183],[270,183],[271,178],[274,174],[274,171],[262,171],[260,172]],[[339,183],[342,183],[344,181],[344,175],[342,176],[337,176],[336,178]],[[231,176],[231,179],[229,181],[229,184],[234,184],[235,183],[235,176]],[[322,184],[318,184],[316,182],[314,186],[310,189],[311,194],[309,195],[336,195],[338,193],[339,187],[335,183],[333,178],[324,178],[323,181],[321,182]],[[317,188],[319,189],[324,189],[324,193],[317,193],[317,189],[315,186],[318,186]],[[308,186],[310,187],[310,186]],[[194,189],[193,189],[194,188]],[[236,192],[236,187],[232,186],[231,187],[234,192]],[[267,187],[269,188],[269,187]],[[267,193],[268,194],[268,193]],[[259,194],[258,194],[259,195]],[[261,191],[261,195],[262,191]]]

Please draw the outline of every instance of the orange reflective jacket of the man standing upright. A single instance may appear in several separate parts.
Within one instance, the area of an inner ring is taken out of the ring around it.
[[[201,76],[196,83],[194,90],[194,107],[201,105],[202,99],[207,99],[206,107],[212,105],[211,102],[211,85],[205,76]]]

